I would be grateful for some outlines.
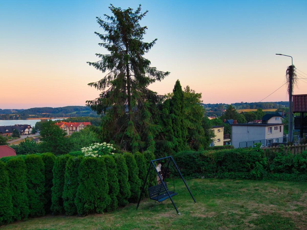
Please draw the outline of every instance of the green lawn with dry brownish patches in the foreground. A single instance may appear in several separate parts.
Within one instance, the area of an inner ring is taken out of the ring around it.
[[[3,229],[307,229],[305,182],[192,179],[175,180],[174,202],[150,199],[114,212],[85,217],[45,216]]]

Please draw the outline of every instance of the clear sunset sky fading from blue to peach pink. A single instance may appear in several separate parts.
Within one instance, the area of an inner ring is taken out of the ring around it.
[[[95,17],[112,3],[149,10],[144,41],[152,66],[171,72],[150,85],[172,92],[177,79],[204,103],[258,102],[285,83],[291,58],[307,78],[306,1],[4,1],[0,0],[0,108],[85,105],[104,74],[87,61],[103,33]],[[304,73],[305,74],[304,74]],[[307,93],[307,79],[293,94]],[[263,101],[286,101],[286,85]]]

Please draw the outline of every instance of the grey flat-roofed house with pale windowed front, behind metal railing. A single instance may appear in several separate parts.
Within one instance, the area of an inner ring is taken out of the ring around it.
[[[284,125],[281,123],[232,124],[231,145],[239,148],[242,147],[240,142],[257,141],[265,145],[283,142],[283,132]]]

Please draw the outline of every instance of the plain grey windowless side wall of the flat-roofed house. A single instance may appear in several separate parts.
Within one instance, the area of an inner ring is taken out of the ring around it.
[[[273,128],[274,129],[274,128]],[[239,148],[241,141],[261,140],[266,137],[266,126],[231,126],[231,145]]]

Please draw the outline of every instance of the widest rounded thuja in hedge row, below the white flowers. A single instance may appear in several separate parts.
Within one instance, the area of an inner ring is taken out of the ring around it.
[[[104,161],[94,157],[84,158],[80,163],[78,178],[75,199],[78,214],[103,213],[111,202]]]

